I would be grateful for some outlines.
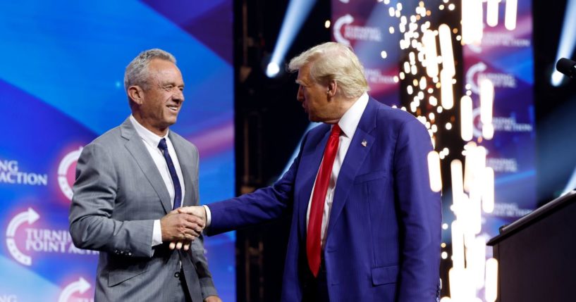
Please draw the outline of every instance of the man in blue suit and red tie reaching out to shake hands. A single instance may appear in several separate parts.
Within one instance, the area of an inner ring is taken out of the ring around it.
[[[353,51],[314,46],[288,65],[310,120],[292,166],[271,187],[204,208],[209,234],[291,213],[282,301],[436,301],[440,196],[429,134],[367,95]]]

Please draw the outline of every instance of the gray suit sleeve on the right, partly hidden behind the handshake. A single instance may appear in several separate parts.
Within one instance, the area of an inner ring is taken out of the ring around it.
[[[193,156],[196,158],[195,167],[200,167],[200,161],[198,156],[198,150],[196,146],[193,146]],[[198,192],[198,169],[195,169],[194,180],[192,181],[194,186],[195,201],[200,200],[200,194]],[[197,206],[198,204],[195,204]],[[190,244],[190,253],[192,254],[192,263],[196,268],[196,273],[198,275],[198,280],[200,281],[200,289],[202,289],[202,298],[207,298],[208,296],[218,296],[216,287],[214,286],[214,280],[212,279],[212,273],[208,269],[208,260],[206,258],[206,253],[204,250],[204,237],[200,236],[195,241]]]

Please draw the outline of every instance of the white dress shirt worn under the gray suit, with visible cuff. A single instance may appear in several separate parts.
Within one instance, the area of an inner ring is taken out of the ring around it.
[[[172,158],[172,162],[174,163],[174,167],[176,168],[176,175],[178,175],[178,180],[180,180],[180,187],[182,188],[182,199],[184,199],[185,194],[185,187],[184,187],[184,177],[182,176],[182,169],[180,169],[180,163],[178,162],[178,156],[176,156],[176,150],[174,150],[174,146],[172,145],[172,141],[168,138],[168,132],[164,137],[159,137],[154,132],[147,130],[144,126],[140,125],[133,115],[130,115],[130,122],[134,126],[136,133],[144,142],[148,153],[152,157],[152,161],[158,168],[158,172],[162,176],[162,180],[164,180],[164,184],[166,185],[166,189],[168,189],[168,195],[170,196],[170,203],[174,206],[174,184],[172,182],[172,177],[170,176],[170,170],[168,170],[168,164],[166,163],[166,159],[164,158],[164,154],[158,148],[158,144],[160,143],[161,139],[166,139],[166,145],[168,146],[168,153]],[[169,131],[169,130],[168,130]],[[180,204],[183,204],[183,200],[180,200]],[[152,233],[152,246],[157,246],[158,244],[162,244],[162,230],[160,227],[160,220],[154,220],[154,230]]]

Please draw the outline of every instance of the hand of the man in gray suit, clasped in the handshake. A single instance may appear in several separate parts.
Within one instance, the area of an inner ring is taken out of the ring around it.
[[[160,219],[162,241],[192,241],[204,229],[205,219],[173,210]]]

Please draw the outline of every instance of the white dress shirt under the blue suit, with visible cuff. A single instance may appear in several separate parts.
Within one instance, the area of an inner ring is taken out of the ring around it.
[[[355,103],[348,108],[348,111],[342,115],[340,121],[338,121],[338,126],[340,126],[342,132],[340,134],[340,140],[338,141],[338,153],[336,153],[336,158],[334,159],[334,164],[332,166],[332,174],[330,176],[330,183],[328,185],[328,191],[326,191],[326,202],[324,203],[324,213],[322,214],[322,225],[320,231],[321,238],[321,248],[324,248],[324,242],[326,242],[326,226],[328,226],[328,221],[330,218],[330,212],[332,210],[332,200],[334,197],[334,189],[336,189],[336,181],[338,180],[338,173],[340,173],[340,168],[348,152],[348,147],[350,146],[350,141],[354,137],[360,118],[362,118],[362,113],[368,105],[368,94],[364,92],[360,98],[355,101]],[[320,164],[321,165],[321,164]],[[318,176],[318,172],[317,172]],[[314,187],[316,186],[316,181],[314,180]],[[314,188],[312,188],[314,192]],[[306,227],[308,227],[308,220],[310,218],[310,205],[312,204],[312,192],[310,194],[310,201],[308,201],[308,210],[306,212]],[[204,205],[204,210],[206,210],[206,226],[210,225],[212,222],[212,213],[210,213],[209,206]]]

